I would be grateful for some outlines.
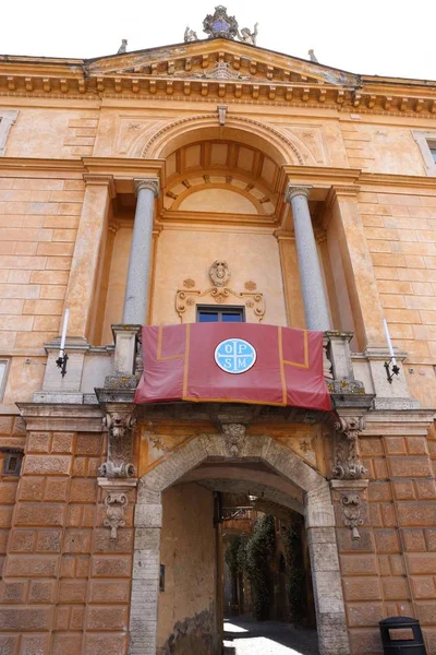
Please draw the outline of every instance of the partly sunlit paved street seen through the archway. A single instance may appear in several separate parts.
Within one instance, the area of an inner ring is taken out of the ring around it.
[[[225,621],[225,655],[318,655],[316,631],[234,617]]]

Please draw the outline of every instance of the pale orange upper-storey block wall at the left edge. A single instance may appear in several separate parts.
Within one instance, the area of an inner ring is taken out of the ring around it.
[[[60,333],[85,189],[50,171],[16,175],[0,176],[0,349],[14,355],[8,405],[41,388],[43,344]]]

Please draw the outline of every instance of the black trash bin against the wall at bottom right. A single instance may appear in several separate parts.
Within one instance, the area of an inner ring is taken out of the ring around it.
[[[390,617],[378,622],[385,655],[426,655],[420,621]]]

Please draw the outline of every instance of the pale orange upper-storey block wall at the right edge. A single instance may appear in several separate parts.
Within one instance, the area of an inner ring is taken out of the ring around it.
[[[422,407],[436,406],[436,198],[434,191],[360,193],[360,212],[393,345]]]

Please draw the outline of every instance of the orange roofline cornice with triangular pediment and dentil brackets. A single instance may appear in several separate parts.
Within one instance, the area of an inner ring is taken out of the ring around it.
[[[0,57],[0,95],[219,99],[436,117],[435,84],[359,75],[228,39],[96,59]]]

